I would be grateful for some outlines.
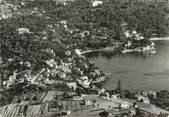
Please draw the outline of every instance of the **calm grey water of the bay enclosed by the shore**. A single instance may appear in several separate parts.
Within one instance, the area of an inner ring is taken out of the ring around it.
[[[155,54],[90,53],[87,57],[110,76],[106,89],[116,88],[120,79],[127,90],[169,89],[169,41],[155,41]]]

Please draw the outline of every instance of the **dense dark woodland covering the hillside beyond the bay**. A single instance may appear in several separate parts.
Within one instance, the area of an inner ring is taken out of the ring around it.
[[[68,20],[71,28],[90,31],[93,28],[107,28],[108,31],[104,33],[116,39],[120,39],[123,33],[121,26],[124,22],[128,24],[128,29],[145,36],[168,34],[167,0],[108,0],[94,8],[90,0],[76,0],[71,6],[61,7],[54,14],[59,14],[59,19]]]

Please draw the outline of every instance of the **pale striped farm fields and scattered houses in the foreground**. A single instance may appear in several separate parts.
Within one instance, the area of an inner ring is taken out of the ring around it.
[[[150,103],[156,92],[143,91],[130,94],[121,89],[98,89],[96,93],[49,90],[24,95],[23,99],[0,108],[1,117],[167,117],[169,111]],[[73,91],[74,90],[74,91]]]

